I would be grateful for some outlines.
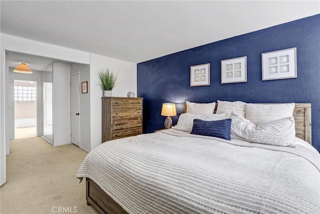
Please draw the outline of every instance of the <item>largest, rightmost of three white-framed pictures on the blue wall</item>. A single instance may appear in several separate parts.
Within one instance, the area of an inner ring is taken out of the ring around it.
[[[296,48],[261,54],[262,80],[296,78]]]

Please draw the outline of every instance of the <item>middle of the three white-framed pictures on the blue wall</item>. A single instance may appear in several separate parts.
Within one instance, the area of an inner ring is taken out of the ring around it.
[[[221,84],[246,82],[246,57],[221,60]]]

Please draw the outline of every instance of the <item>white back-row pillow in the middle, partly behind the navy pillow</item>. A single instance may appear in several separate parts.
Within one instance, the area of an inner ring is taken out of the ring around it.
[[[218,107],[216,108],[216,113],[221,114],[225,113],[225,118],[230,118],[231,111],[245,117],[245,105],[246,103],[241,101],[220,101],[218,100]]]

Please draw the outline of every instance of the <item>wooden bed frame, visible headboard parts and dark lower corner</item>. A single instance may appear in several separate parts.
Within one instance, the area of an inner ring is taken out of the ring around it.
[[[216,107],[217,104],[214,110]],[[186,105],[184,105],[184,112],[186,112]],[[311,104],[295,103],[293,118],[296,137],[311,144]],[[128,214],[90,178],[86,178],[86,204],[91,205],[98,213]]]

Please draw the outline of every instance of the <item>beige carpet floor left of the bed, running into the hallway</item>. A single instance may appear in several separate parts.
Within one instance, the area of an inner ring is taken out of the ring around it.
[[[75,174],[86,152],[73,144],[53,147],[40,137],[10,141],[0,213],[97,213],[86,205],[85,182]]]

